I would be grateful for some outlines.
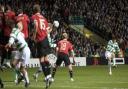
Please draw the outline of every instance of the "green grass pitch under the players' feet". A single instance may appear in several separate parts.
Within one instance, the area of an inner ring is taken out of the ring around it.
[[[30,68],[30,86],[27,89],[45,89],[43,74],[39,75],[38,82],[35,82],[32,75],[37,68]],[[68,69],[59,68],[56,72],[55,81],[49,89],[128,89],[128,65],[118,65],[112,68],[113,74],[108,75],[107,65],[73,67],[74,82],[69,79]],[[0,72],[4,80],[4,89],[26,89],[23,83],[15,85],[14,72],[6,69]]]

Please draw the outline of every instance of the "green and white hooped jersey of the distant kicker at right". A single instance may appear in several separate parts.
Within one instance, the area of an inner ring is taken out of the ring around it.
[[[113,42],[112,40],[110,40],[108,42],[108,45],[107,45],[107,51],[109,52],[119,52],[120,51],[120,48],[118,46],[118,43],[117,42]]]

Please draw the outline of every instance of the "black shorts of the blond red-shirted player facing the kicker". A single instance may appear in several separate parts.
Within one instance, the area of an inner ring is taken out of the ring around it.
[[[60,66],[63,61],[65,63],[65,66],[70,65],[69,56],[65,53],[58,53],[56,65]]]

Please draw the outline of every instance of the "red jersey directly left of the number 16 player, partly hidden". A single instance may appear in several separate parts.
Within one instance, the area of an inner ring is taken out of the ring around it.
[[[23,29],[22,29],[22,33],[24,34],[25,38],[28,38],[28,24],[30,22],[28,16],[26,14],[19,14],[16,17],[16,22],[21,22]]]

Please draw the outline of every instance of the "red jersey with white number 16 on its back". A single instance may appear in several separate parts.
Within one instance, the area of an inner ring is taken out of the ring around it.
[[[42,41],[47,37],[48,21],[40,13],[32,16],[36,30],[36,40]]]

